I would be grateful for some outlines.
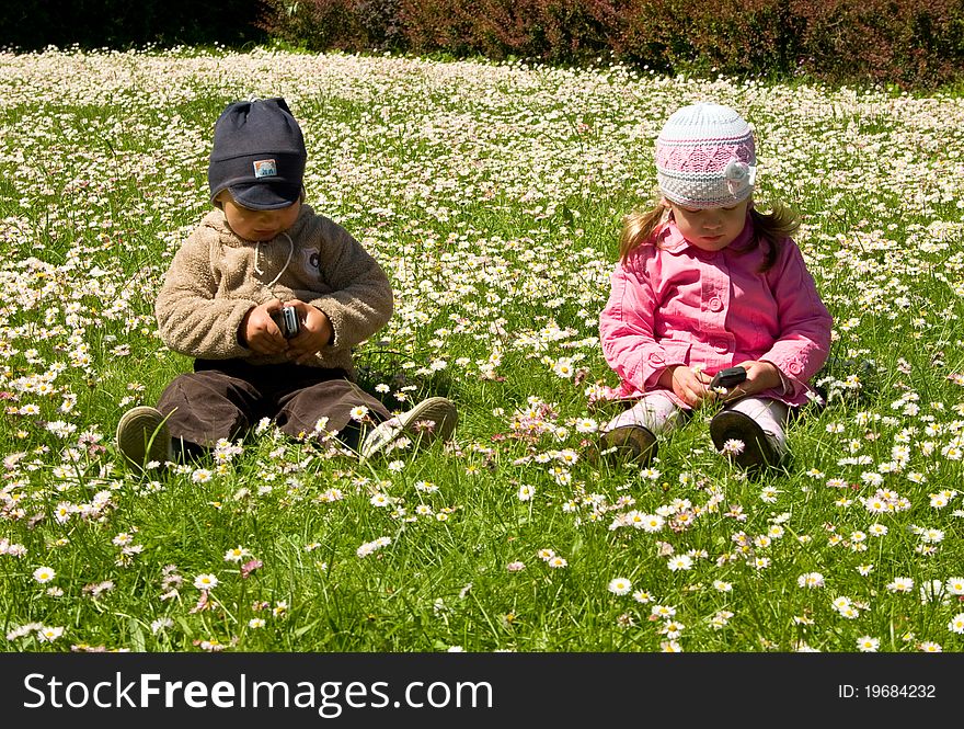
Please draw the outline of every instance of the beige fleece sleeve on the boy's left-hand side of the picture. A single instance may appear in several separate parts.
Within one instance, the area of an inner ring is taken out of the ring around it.
[[[161,339],[175,352],[205,360],[249,356],[238,329],[256,301],[215,298],[218,274],[211,265],[216,230],[200,226],[181,246],[154,304]]]

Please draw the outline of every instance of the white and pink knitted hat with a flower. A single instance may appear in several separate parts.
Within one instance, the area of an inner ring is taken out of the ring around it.
[[[756,164],[753,129],[728,106],[684,106],[656,138],[659,191],[685,207],[743,202],[753,194]]]

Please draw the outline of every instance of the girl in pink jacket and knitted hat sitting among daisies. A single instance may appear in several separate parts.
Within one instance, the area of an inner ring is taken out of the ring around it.
[[[662,198],[627,216],[599,317],[617,396],[635,401],[604,428],[604,452],[647,462],[658,434],[720,399],[718,451],[744,468],[782,460],[789,408],[807,400],[831,319],[790,238],[797,216],[754,209],[756,170],[753,132],[726,106],[686,106],[659,133]],[[744,381],[710,387],[733,366]]]

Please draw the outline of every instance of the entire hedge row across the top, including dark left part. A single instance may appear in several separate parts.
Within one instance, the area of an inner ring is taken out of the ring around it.
[[[20,0],[0,45],[277,38],[397,50],[933,89],[964,80],[964,0]]]

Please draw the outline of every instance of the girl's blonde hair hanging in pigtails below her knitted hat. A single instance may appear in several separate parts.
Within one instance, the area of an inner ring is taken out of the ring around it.
[[[783,239],[789,238],[800,229],[800,215],[782,203],[774,203],[770,213],[764,214],[754,207],[749,208],[749,216],[754,223],[754,237],[750,244],[741,252],[755,250],[760,241],[767,243],[760,273],[769,271],[780,255]],[[622,219],[622,232],[619,236],[619,260],[626,263],[630,253],[640,246],[655,244],[655,233],[662,227],[664,218],[672,215],[672,210],[661,201],[651,210],[641,213],[633,210]]]

